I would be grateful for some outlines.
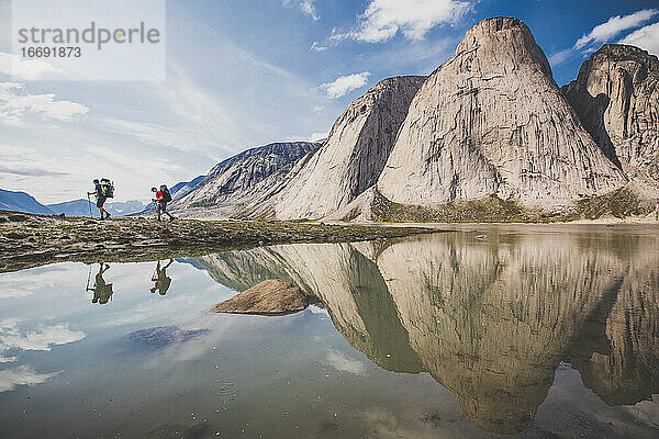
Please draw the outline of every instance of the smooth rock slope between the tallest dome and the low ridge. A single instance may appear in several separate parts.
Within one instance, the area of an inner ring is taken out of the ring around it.
[[[418,76],[384,79],[350,103],[323,147],[275,200],[276,216],[320,218],[371,187],[424,80]]]

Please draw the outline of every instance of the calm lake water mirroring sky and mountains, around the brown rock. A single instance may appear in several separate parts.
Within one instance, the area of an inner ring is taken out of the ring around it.
[[[659,437],[658,229],[479,230],[0,274],[0,437]]]

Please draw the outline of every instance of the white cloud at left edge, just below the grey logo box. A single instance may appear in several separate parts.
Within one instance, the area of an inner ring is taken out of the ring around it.
[[[75,115],[85,114],[89,109],[71,101],[57,101],[54,93],[30,94],[19,82],[0,82],[0,122],[19,126],[26,114],[42,119],[70,122]]]

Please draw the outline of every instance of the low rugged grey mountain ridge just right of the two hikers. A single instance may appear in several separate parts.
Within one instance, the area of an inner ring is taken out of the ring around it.
[[[321,145],[275,143],[217,164],[190,193],[172,204],[188,216],[241,216],[244,205],[269,192],[302,157]],[[258,189],[257,189],[258,188]]]

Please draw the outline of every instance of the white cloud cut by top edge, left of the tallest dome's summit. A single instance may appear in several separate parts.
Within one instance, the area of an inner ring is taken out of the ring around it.
[[[431,29],[456,23],[471,8],[467,1],[455,0],[372,0],[358,16],[356,30],[333,31],[331,38],[380,43],[400,31],[409,40],[423,40]]]

